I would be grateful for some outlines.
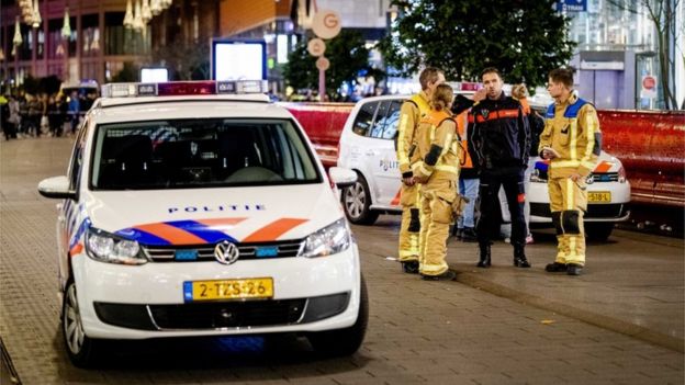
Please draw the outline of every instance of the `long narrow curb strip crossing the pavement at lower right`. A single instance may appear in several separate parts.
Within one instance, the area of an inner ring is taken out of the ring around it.
[[[589,325],[594,325],[604,329],[619,332],[637,338],[642,341],[647,341],[662,348],[674,350],[680,353],[685,352],[685,340],[671,337],[654,330],[647,329],[644,327],[630,324],[617,318],[608,317],[597,313],[580,309],[577,307],[569,306],[568,304],[558,303],[542,297],[524,293],[512,287],[507,287],[491,281],[484,280],[476,274],[457,271],[457,282],[463,283],[476,290],[494,294],[499,297],[516,301],[518,303],[535,306],[544,310],[551,310],[557,314],[571,317]]]

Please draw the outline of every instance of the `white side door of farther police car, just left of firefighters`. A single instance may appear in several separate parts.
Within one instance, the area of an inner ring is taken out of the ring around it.
[[[402,99],[381,101],[369,133],[372,143],[368,151],[377,185],[374,206],[393,206],[400,202],[400,169],[395,141],[402,102]]]

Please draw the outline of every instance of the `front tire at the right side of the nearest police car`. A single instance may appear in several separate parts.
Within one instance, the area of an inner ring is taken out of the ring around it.
[[[314,350],[325,356],[351,355],[363,342],[369,324],[369,295],[367,283],[361,276],[361,293],[359,296],[359,314],[352,326],[339,330],[327,330],[310,333],[307,339]]]

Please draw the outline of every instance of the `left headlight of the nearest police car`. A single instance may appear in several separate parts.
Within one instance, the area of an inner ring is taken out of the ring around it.
[[[147,258],[136,240],[124,239],[93,227],[86,234],[86,251],[88,257],[100,262],[147,263]]]

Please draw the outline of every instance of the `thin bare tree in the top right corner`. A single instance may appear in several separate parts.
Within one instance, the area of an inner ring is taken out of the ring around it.
[[[677,110],[678,103],[675,99],[675,50],[677,36],[683,33],[676,29],[676,15],[681,0],[607,0],[610,4],[639,14],[641,9],[647,11],[647,16],[654,23],[656,32],[656,49],[659,57],[659,71],[661,72],[660,83],[663,90],[666,110]],[[642,5],[638,8],[638,5]],[[685,63],[685,53],[681,49],[681,59]],[[672,87],[673,86],[673,87]]]

